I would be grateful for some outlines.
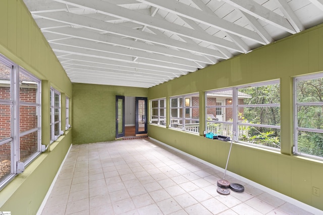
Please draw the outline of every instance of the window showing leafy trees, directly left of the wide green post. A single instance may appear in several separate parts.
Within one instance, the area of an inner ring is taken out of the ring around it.
[[[239,87],[237,90],[238,139],[280,149],[279,81]]]

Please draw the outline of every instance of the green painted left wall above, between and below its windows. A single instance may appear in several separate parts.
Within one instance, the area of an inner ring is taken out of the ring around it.
[[[72,84],[22,0],[0,1],[0,53],[42,80],[42,144],[49,143],[50,86],[71,98]],[[46,93],[47,92],[47,93]],[[65,108],[65,101],[62,102]],[[65,113],[62,114],[65,125]],[[69,147],[67,131],[0,191],[0,211],[36,214]],[[50,152],[49,152],[50,151]]]

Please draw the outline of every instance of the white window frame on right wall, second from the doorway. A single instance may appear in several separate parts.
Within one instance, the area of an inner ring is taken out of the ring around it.
[[[187,131],[190,133],[195,133],[199,134],[199,118],[198,119],[193,119],[192,118],[192,109],[193,108],[198,108],[198,106],[192,106],[192,97],[198,97],[199,98],[199,93],[192,93],[192,94],[186,94],[186,95],[181,95],[181,96],[173,96],[170,97],[170,125],[169,127],[174,128],[174,129],[179,129],[183,131]],[[177,99],[177,107],[172,107],[172,99]],[[180,106],[180,99],[182,99],[182,106]],[[186,106],[186,99],[190,99],[190,104],[189,106]],[[172,110],[177,109],[177,116],[172,117]],[[182,115],[180,114],[180,109],[182,109]],[[190,116],[186,117],[186,109],[190,109]],[[182,123],[177,123],[178,121],[182,120]],[[195,121],[195,124],[198,124],[197,126],[194,125],[189,125],[191,123],[186,123],[186,120],[189,121]],[[177,122],[176,122],[177,121]]]

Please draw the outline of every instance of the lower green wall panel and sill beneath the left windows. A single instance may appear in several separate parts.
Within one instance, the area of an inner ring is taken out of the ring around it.
[[[0,211],[11,211],[11,214],[36,214],[71,146],[71,141],[71,132],[60,137],[60,141],[51,146],[50,153],[40,155],[22,174],[1,190]]]

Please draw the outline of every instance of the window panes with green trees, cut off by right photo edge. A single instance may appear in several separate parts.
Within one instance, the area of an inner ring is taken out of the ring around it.
[[[323,160],[323,74],[294,79],[294,153]]]

